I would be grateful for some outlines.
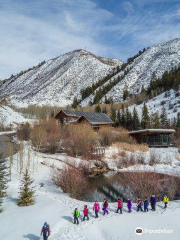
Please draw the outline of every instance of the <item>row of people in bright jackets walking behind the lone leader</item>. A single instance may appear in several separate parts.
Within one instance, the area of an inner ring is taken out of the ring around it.
[[[163,196],[163,202],[164,202],[164,208],[167,208],[167,204],[169,202],[169,199],[166,195]],[[151,204],[151,210],[152,211],[156,211],[156,203],[157,203],[157,197],[156,195],[152,195],[150,197],[150,204]],[[132,200],[128,199],[127,201],[127,208],[128,208],[128,212],[130,213],[132,211]],[[94,203],[93,206],[93,211],[95,211],[95,218],[98,218],[98,214],[100,211],[100,205],[99,203],[96,201]],[[102,206],[102,211],[103,211],[103,215],[109,214],[108,211],[108,201],[106,198],[104,198],[103,201],[103,206]],[[144,212],[148,212],[149,211],[149,200],[147,199],[147,197],[142,200],[141,198],[137,199],[137,212],[139,211],[144,211]],[[121,201],[121,199],[118,199],[117,201],[117,210],[116,213],[123,213],[123,202]],[[78,210],[78,208],[75,208],[74,212],[73,212],[73,218],[74,218],[74,224],[79,224],[79,217],[80,217],[80,212]],[[87,207],[87,205],[84,206],[84,210],[83,210],[83,221],[85,220],[89,220],[89,209]]]

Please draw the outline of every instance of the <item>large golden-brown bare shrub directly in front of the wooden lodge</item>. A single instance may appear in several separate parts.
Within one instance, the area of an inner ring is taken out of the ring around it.
[[[68,155],[91,158],[91,152],[98,144],[97,133],[88,125],[66,125],[63,129],[62,145]]]

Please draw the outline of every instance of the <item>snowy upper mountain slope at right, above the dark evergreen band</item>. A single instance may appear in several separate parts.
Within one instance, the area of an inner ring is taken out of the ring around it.
[[[131,70],[108,92],[107,97],[112,97],[116,102],[121,101],[124,89],[138,93],[142,86],[145,89],[148,87],[153,74],[161,77],[165,71],[179,64],[180,38],[152,46],[127,66]]]

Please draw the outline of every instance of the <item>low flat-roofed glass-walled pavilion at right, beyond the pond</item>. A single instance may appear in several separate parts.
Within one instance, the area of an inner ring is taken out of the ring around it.
[[[143,129],[129,132],[129,135],[149,147],[173,147],[174,133],[174,129]]]

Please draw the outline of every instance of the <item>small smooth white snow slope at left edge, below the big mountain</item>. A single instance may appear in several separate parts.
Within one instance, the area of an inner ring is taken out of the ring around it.
[[[0,123],[4,126],[8,127],[9,125],[12,125],[13,127],[16,127],[17,124],[27,121],[28,119],[15,112],[12,108],[5,105],[0,106]]]

